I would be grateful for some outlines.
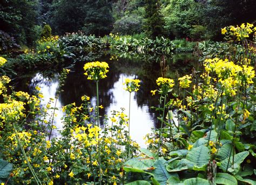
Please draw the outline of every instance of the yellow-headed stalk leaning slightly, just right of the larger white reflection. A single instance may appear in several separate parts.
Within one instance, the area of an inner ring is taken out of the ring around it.
[[[157,158],[159,158],[159,152],[160,152],[160,146],[161,146],[161,133],[163,129],[163,123],[164,123],[164,115],[165,115],[165,104],[166,104],[166,98],[168,93],[171,91],[171,88],[174,86],[174,81],[172,79],[166,79],[163,77],[159,77],[157,79],[157,85],[159,86],[158,92],[162,96],[164,96],[164,106],[163,106],[163,114],[161,118],[161,126],[159,130],[159,141],[158,141],[158,147],[157,147]],[[154,90],[156,91],[156,90]]]

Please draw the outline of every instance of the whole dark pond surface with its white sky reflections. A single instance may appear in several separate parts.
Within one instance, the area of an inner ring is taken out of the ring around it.
[[[111,59],[111,60],[110,60]],[[157,117],[158,112],[152,109],[152,106],[158,106],[158,96],[152,96],[151,90],[157,89],[156,79],[164,72],[161,70],[159,61],[163,60],[162,56],[110,56],[105,55],[93,61],[106,61],[110,69],[106,79],[99,81],[99,105],[104,109],[99,110],[100,116],[111,116],[112,110],[120,111],[125,108],[125,113],[129,111],[129,93],[124,90],[123,82],[126,78],[140,79],[142,81],[137,93],[131,95],[131,118],[130,118],[130,135],[131,138],[141,146],[145,147],[143,137],[151,132],[151,129],[159,127]],[[165,57],[168,71],[165,72],[167,77],[177,78],[179,74],[190,74],[196,63],[196,58],[192,54],[181,53],[174,54],[172,57]],[[80,97],[83,95],[90,96],[92,105],[96,105],[96,84],[87,80],[84,75],[85,62],[77,62],[71,66],[70,74],[63,86],[63,92],[60,93],[56,102],[58,110],[55,111],[57,116],[54,125],[58,130],[62,129],[63,112],[61,107],[73,102],[76,105],[82,103]],[[163,68],[163,67],[162,67]],[[167,68],[166,68],[167,69]],[[32,93],[36,86],[41,88],[42,106],[49,102],[50,98],[56,96],[59,87],[59,72],[55,69],[47,71],[35,71],[30,74],[18,77],[14,80],[16,90],[23,90]],[[54,106],[54,105],[53,105]],[[103,119],[103,118],[102,118]],[[102,121],[100,123],[103,123]],[[57,131],[53,132],[53,137],[60,137]]]

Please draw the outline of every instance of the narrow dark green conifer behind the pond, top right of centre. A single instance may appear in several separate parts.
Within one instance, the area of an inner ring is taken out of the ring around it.
[[[152,38],[164,35],[164,19],[160,13],[160,3],[157,0],[144,0],[145,3],[145,33]]]

